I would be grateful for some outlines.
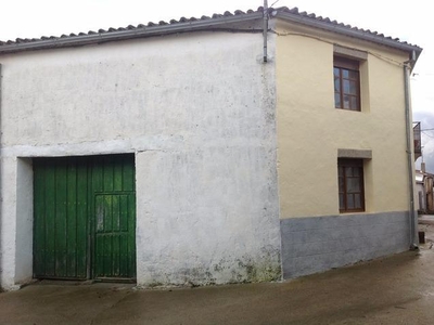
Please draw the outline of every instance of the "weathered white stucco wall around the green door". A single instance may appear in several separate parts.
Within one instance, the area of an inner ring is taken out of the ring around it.
[[[3,287],[31,275],[16,157],[110,153],[136,153],[139,285],[279,277],[272,43],[266,65],[227,32],[0,56]]]

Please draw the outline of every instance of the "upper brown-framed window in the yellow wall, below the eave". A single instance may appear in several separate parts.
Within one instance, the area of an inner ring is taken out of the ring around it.
[[[359,62],[334,56],[334,106],[360,110]]]

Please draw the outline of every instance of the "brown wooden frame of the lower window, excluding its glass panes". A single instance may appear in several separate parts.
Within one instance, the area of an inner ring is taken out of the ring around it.
[[[347,169],[350,174],[347,176]],[[357,170],[357,172],[355,172]],[[348,192],[348,179],[358,179],[359,191]],[[363,212],[365,211],[365,177],[363,159],[337,158],[337,186],[339,206],[341,213]],[[342,195],[342,198],[341,198]],[[357,206],[356,196],[359,195],[360,204]],[[353,207],[349,207],[348,196],[353,197]]]

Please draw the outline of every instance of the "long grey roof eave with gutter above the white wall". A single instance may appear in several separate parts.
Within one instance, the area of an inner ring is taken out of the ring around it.
[[[163,36],[177,32],[188,32],[196,30],[206,30],[212,27],[219,27],[227,24],[243,23],[263,18],[261,12],[247,13],[233,16],[221,16],[217,18],[197,20],[194,22],[156,25],[143,28],[135,28],[127,30],[106,31],[98,34],[78,35],[74,37],[60,37],[46,40],[12,43],[0,47],[0,55],[8,53],[16,53],[23,51],[35,51],[43,49],[59,49],[71,47],[82,47],[94,43],[128,40],[135,38],[145,38],[152,36]]]

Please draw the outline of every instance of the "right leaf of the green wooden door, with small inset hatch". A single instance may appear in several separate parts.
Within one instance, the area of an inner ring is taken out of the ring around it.
[[[92,161],[94,278],[136,277],[133,164],[125,156]]]

